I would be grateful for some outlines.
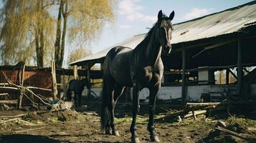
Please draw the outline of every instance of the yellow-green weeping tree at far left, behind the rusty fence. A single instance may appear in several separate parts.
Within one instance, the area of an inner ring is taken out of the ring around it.
[[[4,64],[26,61],[44,66],[53,51],[54,19],[48,8],[52,0],[1,1],[1,57]]]

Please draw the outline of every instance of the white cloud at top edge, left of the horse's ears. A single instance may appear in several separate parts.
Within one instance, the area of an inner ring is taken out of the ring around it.
[[[123,0],[118,5],[118,11],[120,15],[125,16],[128,21],[135,21],[135,20],[141,20],[141,21],[156,21],[157,16],[150,16],[143,14],[143,6],[140,6],[138,4],[140,0]]]

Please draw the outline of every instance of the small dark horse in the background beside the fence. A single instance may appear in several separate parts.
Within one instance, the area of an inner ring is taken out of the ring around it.
[[[89,88],[89,82],[87,79],[72,79],[70,82],[68,82],[68,88],[67,88],[67,100],[71,100],[74,98],[75,107],[81,106],[81,97],[82,97],[82,91],[85,89],[85,87]],[[73,96],[73,97],[72,97]]]

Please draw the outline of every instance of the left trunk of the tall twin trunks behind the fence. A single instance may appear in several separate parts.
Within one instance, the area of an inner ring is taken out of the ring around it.
[[[57,68],[62,67],[62,62],[60,63],[60,38],[61,38],[61,23],[62,23],[62,11],[63,11],[64,1],[60,0],[60,9],[57,19],[57,31],[56,31],[56,39],[54,44],[54,59],[55,59],[55,65]]]

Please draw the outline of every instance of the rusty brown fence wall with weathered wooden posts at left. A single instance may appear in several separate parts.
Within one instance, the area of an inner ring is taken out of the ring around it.
[[[60,89],[66,87],[65,76],[74,75],[73,69],[54,68],[54,61],[49,68],[37,66],[26,66],[20,61],[14,66],[0,66],[0,104],[19,104],[20,107],[31,105],[32,102],[40,103],[39,98],[34,98],[34,94],[42,99],[60,98]],[[86,69],[77,69],[78,76],[87,76]],[[57,82],[57,76],[62,77],[62,82]],[[93,79],[102,78],[102,71],[91,71],[90,77]],[[27,92],[22,92],[27,89]],[[59,94],[58,90],[59,89]],[[31,91],[31,93],[28,92]],[[47,101],[47,100],[45,100]],[[42,102],[42,101],[41,101]]]

